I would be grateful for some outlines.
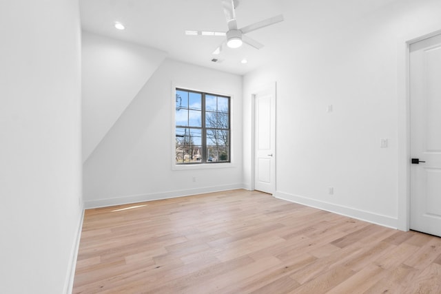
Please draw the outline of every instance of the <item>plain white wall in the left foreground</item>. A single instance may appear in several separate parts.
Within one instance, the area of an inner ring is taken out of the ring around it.
[[[0,6],[0,293],[65,293],[82,215],[78,1]]]

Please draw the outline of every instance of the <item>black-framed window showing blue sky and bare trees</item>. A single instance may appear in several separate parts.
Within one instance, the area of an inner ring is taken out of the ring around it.
[[[176,165],[230,162],[228,96],[176,88]]]

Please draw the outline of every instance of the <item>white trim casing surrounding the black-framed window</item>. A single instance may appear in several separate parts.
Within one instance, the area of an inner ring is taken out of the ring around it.
[[[201,87],[189,87],[188,85],[184,86],[180,83],[176,83],[172,81],[172,101],[176,99],[176,88],[180,88],[183,90],[196,91],[209,93],[219,96],[227,96],[229,97],[229,160],[230,162],[223,163],[195,163],[193,165],[176,165],[174,158],[176,157],[176,150],[174,149],[174,145],[176,143],[176,105],[172,103],[172,143],[170,145],[170,149],[172,151],[170,158],[172,159],[172,170],[174,171],[185,171],[185,170],[194,170],[194,169],[220,169],[220,168],[228,168],[228,167],[236,167],[235,154],[234,154],[234,95],[226,94],[225,92],[218,90],[203,90]]]

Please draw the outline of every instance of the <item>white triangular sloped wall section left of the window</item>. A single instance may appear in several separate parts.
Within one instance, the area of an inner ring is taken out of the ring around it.
[[[83,31],[83,162],[165,59],[165,52]]]

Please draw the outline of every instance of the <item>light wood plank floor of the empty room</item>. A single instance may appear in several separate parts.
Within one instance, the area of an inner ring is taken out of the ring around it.
[[[73,293],[441,293],[441,238],[244,190],[90,209]]]

